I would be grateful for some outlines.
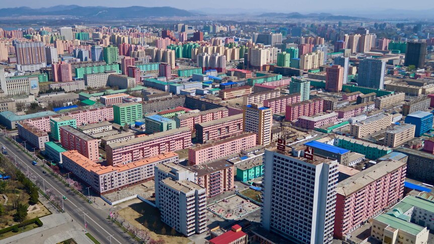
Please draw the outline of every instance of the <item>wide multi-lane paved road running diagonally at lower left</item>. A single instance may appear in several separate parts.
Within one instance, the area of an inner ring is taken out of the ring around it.
[[[86,217],[87,231],[91,233],[101,243],[135,243],[128,234],[124,233],[115,224],[108,221],[106,218],[109,215],[109,210],[96,209],[88,204],[81,197],[70,193],[69,189],[63,185],[57,178],[50,174],[43,174],[44,168],[41,166],[32,166],[32,159],[18,149],[11,141],[5,138],[5,135],[0,136],[0,144],[5,145],[9,155],[16,156],[17,164],[21,165],[24,173],[29,171],[35,176],[45,180],[45,189],[52,188],[59,196],[66,196],[67,200],[63,201],[64,210],[71,215],[74,221],[83,223]],[[111,237],[111,242],[109,236]]]

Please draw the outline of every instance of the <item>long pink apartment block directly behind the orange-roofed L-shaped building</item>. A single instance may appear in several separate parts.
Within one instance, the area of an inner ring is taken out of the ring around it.
[[[107,163],[117,166],[188,147],[191,147],[191,130],[181,127],[112,143],[106,145],[105,149]]]

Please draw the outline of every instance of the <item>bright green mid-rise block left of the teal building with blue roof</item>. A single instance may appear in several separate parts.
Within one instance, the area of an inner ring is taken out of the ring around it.
[[[141,103],[123,103],[113,105],[114,122],[124,126],[143,118]]]

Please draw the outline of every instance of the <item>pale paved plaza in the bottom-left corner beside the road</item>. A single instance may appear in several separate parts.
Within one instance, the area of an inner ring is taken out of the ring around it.
[[[77,243],[93,244],[83,226],[71,222],[67,213],[54,213],[40,218],[41,227],[0,240],[0,243],[58,243],[73,238]]]

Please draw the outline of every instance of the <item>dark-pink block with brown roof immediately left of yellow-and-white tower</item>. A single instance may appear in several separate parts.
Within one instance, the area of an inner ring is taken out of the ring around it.
[[[243,115],[224,117],[194,126],[196,129],[197,143],[205,143],[210,140],[218,140],[233,134],[243,132]]]

